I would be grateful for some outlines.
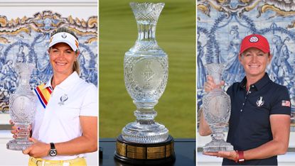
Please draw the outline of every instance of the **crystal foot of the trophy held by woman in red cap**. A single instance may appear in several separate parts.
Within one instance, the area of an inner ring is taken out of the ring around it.
[[[234,147],[224,140],[211,141],[203,147],[203,152],[232,151]]]

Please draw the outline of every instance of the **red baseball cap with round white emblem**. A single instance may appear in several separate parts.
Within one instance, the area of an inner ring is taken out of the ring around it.
[[[267,41],[267,38],[264,38],[264,36],[262,35],[247,35],[242,40],[239,55],[241,55],[242,52],[244,52],[248,48],[258,48],[259,50],[262,50],[264,53],[269,53],[269,42]]]

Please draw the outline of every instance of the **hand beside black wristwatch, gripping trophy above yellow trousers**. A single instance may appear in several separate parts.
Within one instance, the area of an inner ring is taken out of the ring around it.
[[[48,155],[50,144],[39,142],[35,138],[28,138],[28,140],[33,142],[33,145],[23,150],[23,154],[30,155],[35,158],[45,157]]]

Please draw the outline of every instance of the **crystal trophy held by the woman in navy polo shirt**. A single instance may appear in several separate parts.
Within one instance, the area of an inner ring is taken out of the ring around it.
[[[206,65],[206,70],[213,77],[215,84],[220,84],[224,65],[211,63]],[[208,122],[211,142],[203,147],[203,152],[218,152],[233,150],[230,143],[225,142],[223,130],[230,119],[230,96],[222,89],[213,89],[203,97],[203,114]]]

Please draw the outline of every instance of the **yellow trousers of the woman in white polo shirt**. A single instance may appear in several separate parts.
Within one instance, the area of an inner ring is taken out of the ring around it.
[[[72,160],[44,160],[41,158],[30,157],[28,166],[85,166],[84,157],[77,157]]]

